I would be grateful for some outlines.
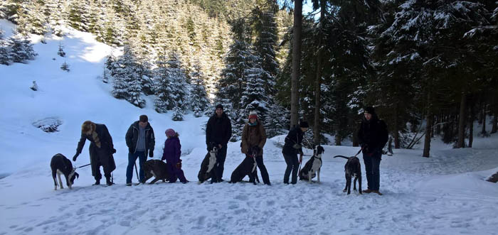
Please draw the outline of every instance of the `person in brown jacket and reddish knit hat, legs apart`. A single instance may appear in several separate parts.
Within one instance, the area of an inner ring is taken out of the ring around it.
[[[265,143],[265,127],[263,127],[263,124],[258,119],[258,114],[255,111],[251,111],[249,113],[249,122],[244,125],[242,131],[242,143],[240,143],[240,148],[242,153],[245,153],[246,158],[250,158],[249,155],[255,155],[256,164],[258,164],[258,168],[260,168],[263,182],[265,185],[271,185],[268,171],[266,170],[265,163],[263,163],[263,146],[265,146]],[[255,153],[253,153],[253,151],[255,151]]]

